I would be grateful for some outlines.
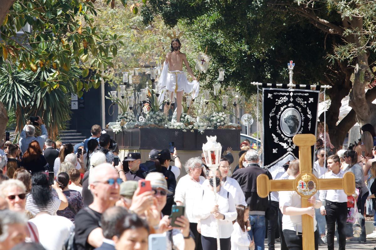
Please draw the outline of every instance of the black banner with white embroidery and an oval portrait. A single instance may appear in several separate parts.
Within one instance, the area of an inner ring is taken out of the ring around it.
[[[262,93],[263,165],[282,166],[299,157],[294,135],[316,135],[319,91],[263,88]]]

